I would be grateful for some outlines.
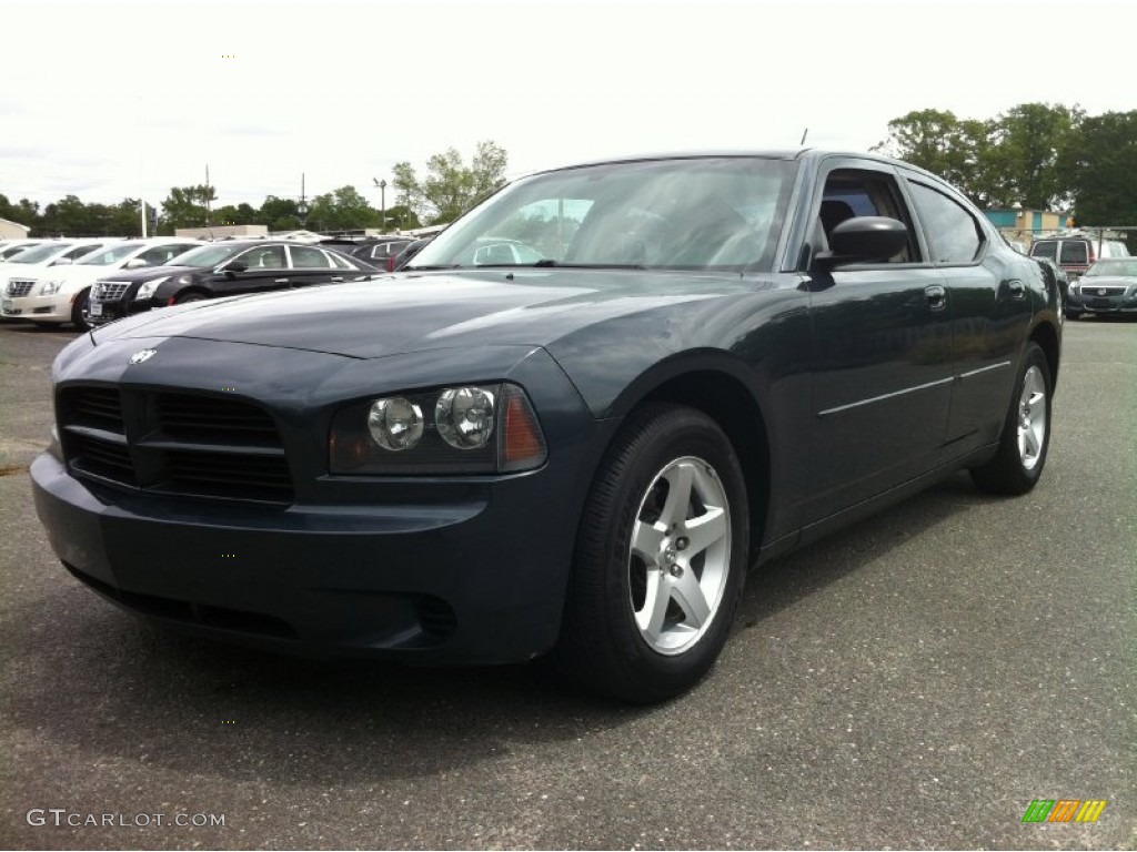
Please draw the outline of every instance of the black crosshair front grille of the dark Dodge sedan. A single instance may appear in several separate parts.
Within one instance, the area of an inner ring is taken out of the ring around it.
[[[63,389],[57,411],[76,474],[144,491],[292,502],[276,425],[248,402],[90,385]]]

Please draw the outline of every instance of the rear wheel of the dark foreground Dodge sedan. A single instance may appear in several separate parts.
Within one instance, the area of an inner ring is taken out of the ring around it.
[[[980,491],[1026,494],[1038,483],[1051,443],[1053,389],[1046,356],[1037,343],[1028,343],[998,451],[986,465],[971,470]]]

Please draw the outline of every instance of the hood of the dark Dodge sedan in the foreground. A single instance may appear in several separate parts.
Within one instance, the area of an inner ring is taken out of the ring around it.
[[[197,337],[352,358],[455,346],[540,346],[606,320],[755,286],[753,278],[744,282],[737,274],[426,273],[166,308],[103,326],[93,340]],[[658,331],[665,333],[671,320],[661,321]]]

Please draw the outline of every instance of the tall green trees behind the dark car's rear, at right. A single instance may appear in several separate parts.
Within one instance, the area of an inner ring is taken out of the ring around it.
[[[981,208],[1056,210],[1079,225],[1137,225],[1137,110],[1086,115],[1022,103],[994,118],[921,109],[873,150],[933,172]]]

